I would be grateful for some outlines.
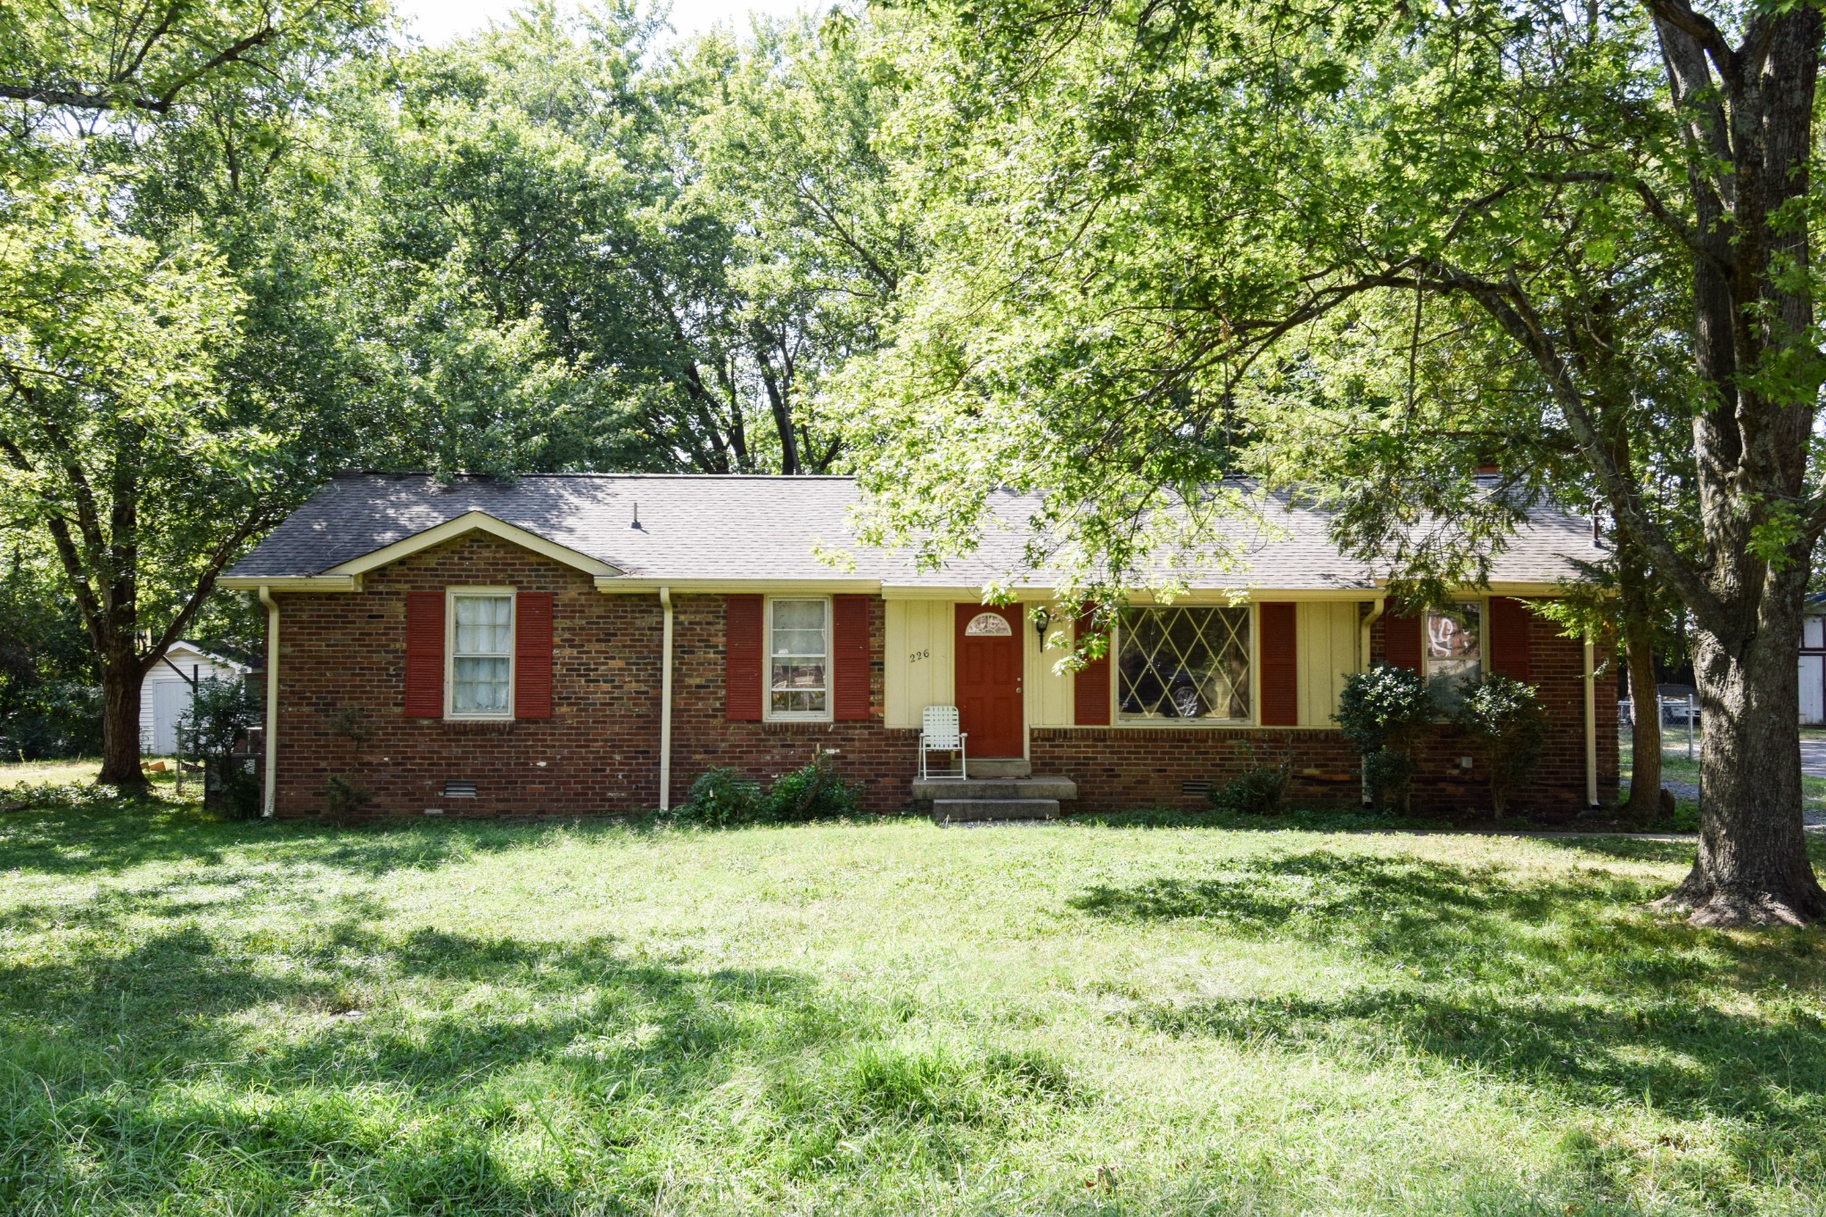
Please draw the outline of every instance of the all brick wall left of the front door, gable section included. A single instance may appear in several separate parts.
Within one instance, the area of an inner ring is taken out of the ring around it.
[[[504,586],[553,597],[551,719],[407,719],[405,595]],[[362,786],[367,816],[639,812],[659,803],[659,651],[654,593],[603,595],[588,575],[471,533],[371,571],[354,595],[278,593],[278,814],[329,805],[329,779]],[[869,721],[725,723],[723,597],[674,597],[672,797],[708,766],[758,781],[838,750],[838,772],[864,783],[867,810],[908,803],[917,732],[882,728],[884,608],[869,609]],[[358,715],[351,739],[347,717]],[[540,765],[540,761],[544,765]],[[447,799],[444,783],[477,797]]]

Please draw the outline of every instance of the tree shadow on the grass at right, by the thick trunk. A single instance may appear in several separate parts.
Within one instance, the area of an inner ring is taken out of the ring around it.
[[[1618,856],[1658,861],[1660,848],[1642,847],[1673,845],[1616,843]],[[1642,1100],[1680,1118],[1817,1128],[1826,1025],[1811,994],[1826,936],[1695,931],[1643,910],[1663,887],[1596,867],[1539,878],[1311,850],[1200,879],[1097,887],[1070,903],[1099,918],[1293,936],[1360,963],[1362,980],[1338,994],[1143,1000],[1125,1014],[1169,1035],[1415,1053],[1590,1109]]]

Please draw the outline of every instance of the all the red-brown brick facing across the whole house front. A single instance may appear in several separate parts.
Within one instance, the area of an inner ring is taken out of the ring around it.
[[[444,723],[404,717],[405,595],[446,586],[511,586],[553,597],[553,713],[544,721]],[[639,812],[659,801],[657,595],[603,595],[592,578],[471,533],[365,577],[354,595],[278,593],[281,816],[321,812],[329,779],[369,794],[367,816]],[[882,600],[869,606],[869,719],[855,723],[729,723],[723,717],[723,597],[674,597],[672,801],[710,766],[769,783],[834,748],[836,768],[864,785],[864,806],[908,806],[917,768],[915,730],[882,726]],[[1517,806],[1585,801],[1583,657],[1536,620],[1534,679],[1554,733],[1536,783]],[[1380,629],[1373,653],[1380,655]],[[1616,796],[1614,682],[1600,686],[1600,796]],[[352,728],[352,730],[351,730]],[[352,739],[351,735],[362,735]],[[1083,810],[1202,806],[1181,783],[1223,781],[1262,755],[1293,750],[1304,805],[1355,803],[1357,759],[1328,730],[1035,728],[1037,774],[1077,781]],[[1461,746],[1443,737],[1419,783],[1422,806],[1485,806],[1479,774],[1457,768]],[[473,799],[444,796],[471,781]]]

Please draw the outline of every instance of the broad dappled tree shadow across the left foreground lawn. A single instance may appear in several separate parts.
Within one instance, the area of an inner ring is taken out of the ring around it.
[[[792,971],[320,909],[146,932],[104,892],[0,954],[0,1212],[146,1212],[179,1184],[234,1212],[652,1212],[740,1162],[948,1177],[1083,1102],[1043,1055],[895,1047],[911,1004]]]

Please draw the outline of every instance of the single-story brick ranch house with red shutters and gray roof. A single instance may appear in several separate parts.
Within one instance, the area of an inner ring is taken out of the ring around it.
[[[1110,659],[1072,675],[1048,633],[1074,608],[1019,582],[981,602],[1019,567],[1017,531],[939,573],[871,551],[838,569],[814,549],[847,542],[855,498],[849,478],[332,480],[223,578],[267,606],[265,812],[321,812],[332,790],[387,816],[637,812],[710,766],[771,781],[814,748],[893,812],[935,794],[913,786],[928,704],[960,708],[1002,796],[1200,806],[1287,755],[1293,799],[1349,803],[1331,713],[1380,661],[1537,684],[1552,735],[1516,805],[1616,797],[1614,681],[1530,611],[1590,553],[1574,516],[1537,515],[1486,588],[1421,619],[1390,611],[1320,513],[1280,504],[1242,569],[1127,609]],[[1486,805],[1464,752],[1441,728],[1419,803]]]

